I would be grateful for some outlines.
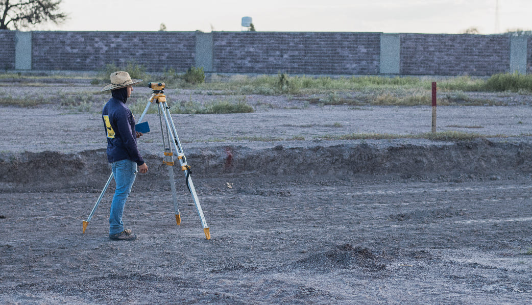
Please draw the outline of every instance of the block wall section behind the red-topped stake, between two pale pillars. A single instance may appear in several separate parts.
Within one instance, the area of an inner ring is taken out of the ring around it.
[[[509,70],[509,36],[401,34],[400,74],[492,75]]]

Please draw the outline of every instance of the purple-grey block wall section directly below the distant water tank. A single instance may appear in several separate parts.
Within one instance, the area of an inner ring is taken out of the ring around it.
[[[380,33],[214,32],[214,70],[378,74]]]

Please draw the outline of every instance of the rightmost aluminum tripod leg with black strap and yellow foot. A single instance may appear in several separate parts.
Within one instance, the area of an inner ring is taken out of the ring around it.
[[[200,221],[203,226],[203,231],[205,232],[205,237],[207,239],[211,239],[211,233],[209,231],[209,226],[207,225],[207,222],[205,221],[205,216],[203,215],[203,210],[200,205],[200,200],[197,197],[196,189],[194,188],[194,183],[192,182],[192,178],[190,178],[190,167],[188,166],[186,162],[185,154],[182,151],[181,143],[179,142],[179,138],[177,136],[176,126],[173,124],[172,116],[170,114],[170,110],[169,110],[169,107],[166,101],[162,101],[162,106],[164,109],[163,111],[164,122],[167,125],[169,134],[173,135],[172,143],[173,143],[174,148],[178,152],[178,159],[181,165],[181,170],[185,173],[186,183],[188,185],[190,193],[192,194],[192,198],[194,200],[194,204],[196,205],[198,216],[200,216]]]

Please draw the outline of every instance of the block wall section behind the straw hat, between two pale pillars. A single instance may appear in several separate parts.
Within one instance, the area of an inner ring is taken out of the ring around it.
[[[97,71],[106,64],[176,71],[194,65],[194,32],[32,32],[33,70]]]

